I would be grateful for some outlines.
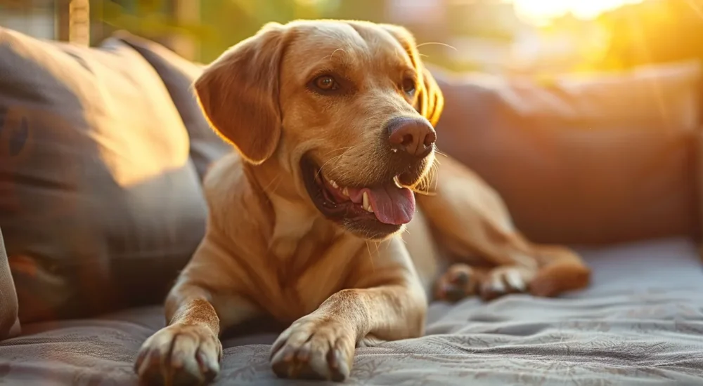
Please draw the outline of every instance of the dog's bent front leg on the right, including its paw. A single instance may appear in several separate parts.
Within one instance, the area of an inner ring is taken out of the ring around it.
[[[427,298],[404,244],[385,241],[360,255],[349,288],[295,321],[271,347],[281,378],[342,381],[361,342],[413,338],[423,333]]]

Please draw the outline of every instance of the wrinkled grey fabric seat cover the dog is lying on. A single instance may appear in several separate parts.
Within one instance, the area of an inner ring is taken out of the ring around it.
[[[565,298],[509,295],[436,303],[423,338],[361,348],[348,385],[701,385],[703,271],[690,241],[584,250],[593,286]],[[136,385],[141,342],[159,307],[26,326],[0,343],[0,384]],[[277,380],[275,333],[224,341],[216,385]]]

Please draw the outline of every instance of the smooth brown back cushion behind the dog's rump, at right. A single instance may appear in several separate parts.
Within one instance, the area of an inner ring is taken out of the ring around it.
[[[494,186],[531,239],[695,234],[697,65],[550,84],[436,75],[439,149]]]

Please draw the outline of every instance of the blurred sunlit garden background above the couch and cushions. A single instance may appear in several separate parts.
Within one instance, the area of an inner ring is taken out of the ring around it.
[[[0,0],[0,25],[32,36],[94,45],[127,29],[198,62],[297,18],[404,25],[428,62],[506,76],[703,58],[703,0]]]

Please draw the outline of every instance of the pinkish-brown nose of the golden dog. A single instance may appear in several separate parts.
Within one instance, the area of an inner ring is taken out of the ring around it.
[[[394,118],[386,127],[392,149],[413,157],[427,157],[437,140],[437,133],[427,119]]]

